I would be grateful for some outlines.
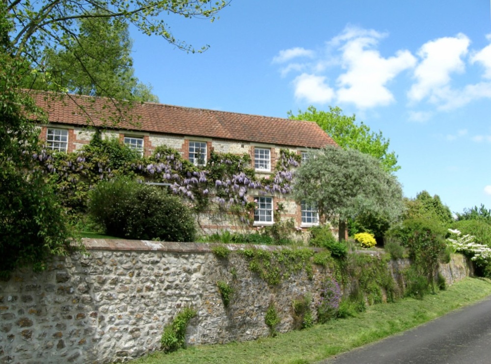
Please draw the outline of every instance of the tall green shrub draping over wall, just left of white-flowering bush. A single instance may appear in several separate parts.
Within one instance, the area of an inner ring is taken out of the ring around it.
[[[434,288],[438,260],[446,247],[446,229],[435,220],[411,219],[394,227],[390,235],[409,249],[416,276],[426,277],[427,286]]]

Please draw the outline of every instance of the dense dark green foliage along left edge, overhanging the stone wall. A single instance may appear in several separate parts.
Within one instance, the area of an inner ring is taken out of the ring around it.
[[[26,115],[40,122],[42,110],[21,89],[31,72],[15,52],[9,32],[15,30],[7,2],[0,2],[0,274],[31,264],[43,269],[52,254],[70,250],[73,236],[52,185],[35,170],[38,132]]]

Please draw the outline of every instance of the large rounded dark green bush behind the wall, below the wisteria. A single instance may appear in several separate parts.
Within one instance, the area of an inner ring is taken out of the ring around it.
[[[193,241],[194,219],[178,197],[125,178],[101,182],[89,211],[106,234],[130,239]]]

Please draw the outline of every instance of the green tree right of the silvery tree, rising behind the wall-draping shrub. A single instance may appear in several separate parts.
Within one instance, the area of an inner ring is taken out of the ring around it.
[[[427,191],[421,191],[415,199],[405,199],[406,212],[404,219],[435,220],[447,226],[453,220],[452,212],[448,206],[441,202],[438,195],[433,197]]]

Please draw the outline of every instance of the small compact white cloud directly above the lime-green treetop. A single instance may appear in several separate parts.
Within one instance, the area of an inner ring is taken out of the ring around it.
[[[326,84],[326,77],[301,74],[293,81],[295,97],[309,103],[326,104],[334,98],[334,90]]]

